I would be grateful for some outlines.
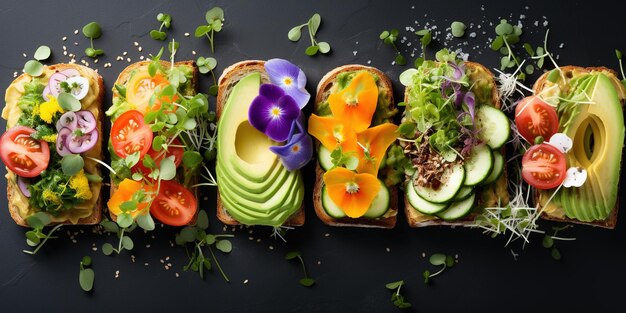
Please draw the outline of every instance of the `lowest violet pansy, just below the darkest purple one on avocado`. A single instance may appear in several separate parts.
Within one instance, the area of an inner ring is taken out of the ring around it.
[[[271,146],[288,171],[302,168],[313,156],[313,140],[304,128],[303,118],[293,121],[289,131],[289,140],[284,146]]]

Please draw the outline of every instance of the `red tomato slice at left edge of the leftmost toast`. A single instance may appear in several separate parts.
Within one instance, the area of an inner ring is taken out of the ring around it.
[[[9,170],[22,177],[35,177],[48,167],[50,148],[30,135],[34,129],[17,126],[0,138],[0,157]]]

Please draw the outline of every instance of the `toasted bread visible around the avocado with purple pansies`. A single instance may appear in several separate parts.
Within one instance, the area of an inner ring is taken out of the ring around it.
[[[217,104],[216,104],[216,116],[219,120],[222,110],[224,109],[224,105],[228,101],[228,97],[230,96],[230,92],[232,88],[245,76],[250,73],[258,72],[261,73],[261,83],[269,83],[270,79],[265,72],[265,61],[260,60],[248,60],[241,61],[235,63],[222,72],[218,80],[219,90],[217,92]],[[230,214],[228,214],[228,208],[224,207],[224,203],[220,200],[218,186],[217,193],[217,218],[226,225],[240,225],[239,221],[233,218]],[[287,221],[285,221],[285,226],[302,226],[304,225],[305,216],[304,216],[304,203],[301,207],[293,213]]]

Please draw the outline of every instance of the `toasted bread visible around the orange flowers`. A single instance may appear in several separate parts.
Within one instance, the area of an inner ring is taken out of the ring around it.
[[[388,91],[386,95],[388,96],[389,107],[386,108],[388,110],[395,109],[395,102],[393,99],[393,87],[391,85],[391,80],[380,70],[359,65],[359,64],[350,64],[337,67],[330,72],[326,73],[324,77],[320,80],[317,85],[317,95],[315,97],[315,113],[318,111],[318,105],[330,96],[332,92],[335,92],[336,88],[336,78],[337,75],[346,72],[355,72],[355,71],[367,71],[371,74],[377,76],[378,88],[379,90],[385,89]],[[372,125],[375,126],[375,125]],[[319,142],[316,142],[316,147],[319,146]],[[324,170],[320,166],[319,162],[316,162],[315,168],[315,186],[313,188],[313,206],[315,207],[315,214],[317,217],[322,220],[326,225],[330,226],[348,226],[348,227],[365,227],[365,228],[393,228],[396,226],[396,221],[398,217],[398,188],[395,186],[389,187],[390,192],[390,207],[389,211],[380,218],[334,218],[324,210],[324,206],[322,205],[322,187],[324,186]]]

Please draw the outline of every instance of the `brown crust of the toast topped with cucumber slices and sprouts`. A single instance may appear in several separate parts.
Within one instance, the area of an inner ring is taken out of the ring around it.
[[[492,89],[492,103],[494,104],[494,107],[500,109],[502,104],[500,103],[500,97],[498,96],[498,89],[496,87],[495,81],[494,81],[494,76],[493,73],[491,71],[489,71],[489,69],[487,69],[485,66],[483,66],[480,63],[476,63],[476,62],[470,62],[470,61],[466,61],[464,62],[465,66],[467,68],[477,68],[480,69],[481,71],[483,71],[484,73],[489,74],[491,80],[493,81],[493,89]],[[408,101],[408,89],[405,89],[405,93],[404,93],[404,100]],[[504,159],[506,160],[506,149],[504,147],[502,147],[502,149],[500,149],[500,152],[502,153],[502,156],[504,157]],[[502,190],[503,189],[503,190]],[[502,194],[503,197],[506,197],[506,199],[503,199],[502,201],[504,203],[508,203],[509,199],[508,199],[508,191],[507,191],[507,171],[506,171],[506,166],[504,167],[504,170],[502,172],[502,175],[500,176],[500,178],[498,178],[498,180],[495,182],[494,184],[494,192],[496,193],[496,195],[500,195]],[[506,200],[506,201],[504,201]],[[477,200],[480,204],[481,199],[478,198],[478,194],[477,194]],[[404,213],[406,214],[407,217],[407,223],[409,224],[409,226],[411,227],[426,227],[426,226],[469,226],[474,224],[474,219],[477,216],[477,213],[472,212],[469,215],[467,215],[464,218],[455,220],[455,221],[445,221],[442,220],[440,218],[434,218],[434,219],[430,219],[430,220],[425,220],[425,221],[420,221],[419,216],[423,215],[421,213],[418,213],[417,209],[415,209],[410,203],[409,203],[409,199],[407,198],[406,194],[404,195]]]

